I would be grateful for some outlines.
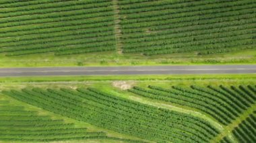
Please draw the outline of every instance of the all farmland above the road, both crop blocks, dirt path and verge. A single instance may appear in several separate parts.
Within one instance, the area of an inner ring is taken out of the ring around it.
[[[255,6],[251,0],[3,0],[0,66],[255,64]]]

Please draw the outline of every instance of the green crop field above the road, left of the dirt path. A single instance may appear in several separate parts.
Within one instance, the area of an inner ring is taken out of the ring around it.
[[[0,52],[6,56],[115,50],[111,0],[0,2]]]

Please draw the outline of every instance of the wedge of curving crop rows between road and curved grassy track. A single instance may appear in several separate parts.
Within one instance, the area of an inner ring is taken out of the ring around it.
[[[193,107],[199,111],[208,113],[224,125],[230,124],[247,107],[255,103],[255,95],[243,86],[240,86],[240,89],[232,86],[232,91],[222,85],[220,86],[222,91],[219,91],[220,89],[211,90],[195,86],[192,86],[191,89],[172,87],[172,90],[156,86],[149,86],[149,88],[153,90],[133,87],[129,91],[143,97]]]

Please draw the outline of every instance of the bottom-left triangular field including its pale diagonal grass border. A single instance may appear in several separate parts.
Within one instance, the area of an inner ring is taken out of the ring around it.
[[[1,142],[143,142],[0,96]]]

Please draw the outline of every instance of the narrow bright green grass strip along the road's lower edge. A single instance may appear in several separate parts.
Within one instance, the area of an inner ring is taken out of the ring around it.
[[[42,77],[0,77],[0,83],[41,83],[41,82],[78,82],[78,81],[173,81],[187,83],[195,80],[236,81],[256,79],[256,74],[234,75],[103,75],[103,76],[42,76]],[[182,81],[185,80],[185,81]]]

